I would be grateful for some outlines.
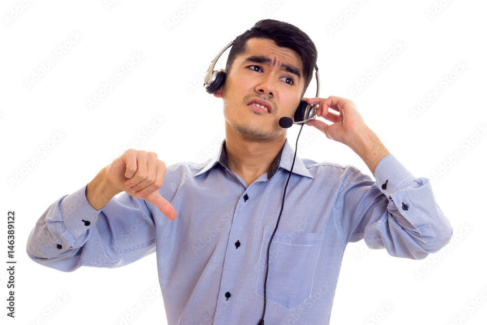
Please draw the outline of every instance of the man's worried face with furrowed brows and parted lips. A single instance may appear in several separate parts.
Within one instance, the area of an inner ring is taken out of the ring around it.
[[[227,129],[252,141],[285,139],[279,119],[293,118],[300,103],[301,58],[270,39],[250,38],[246,45],[247,51],[235,58],[225,84],[214,95],[223,98],[225,120],[231,126]],[[267,110],[250,105],[256,101]]]

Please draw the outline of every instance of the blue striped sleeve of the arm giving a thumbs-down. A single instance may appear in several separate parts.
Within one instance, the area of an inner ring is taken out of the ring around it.
[[[27,240],[33,261],[71,272],[117,268],[155,252],[155,224],[144,200],[122,193],[94,210],[85,190],[61,197],[37,220]]]

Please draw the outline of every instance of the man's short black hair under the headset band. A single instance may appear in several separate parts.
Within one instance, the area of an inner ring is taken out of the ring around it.
[[[313,68],[316,67],[318,51],[315,43],[309,36],[298,27],[279,20],[263,19],[255,23],[249,30],[235,39],[228,58],[226,60],[226,74],[230,73],[233,61],[236,57],[245,53],[246,42],[249,38],[266,38],[273,40],[277,46],[287,47],[296,51],[303,63],[304,89],[301,95],[304,96],[311,79],[313,78]]]

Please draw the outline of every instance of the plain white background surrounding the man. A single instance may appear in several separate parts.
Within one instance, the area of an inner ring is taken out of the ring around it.
[[[230,40],[265,18],[295,24],[314,40],[321,97],[352,98],[389,151],[416,177],[430,178],[454,229],[449,246],[420,261],[350,244],[330,324],[485,324],[485,1],[20,3],[0,7],[2,324],[166,324],[155,254],[124,268],[64,273],[31,261],[26,241],[51,203],[92,180],[133,141],[167,165],[214,153],[224,137],[223,105],[200,78]],[[133,53],[143,58],[120,78],[117,70]],[[43,73],[50,58],[55,64]],[[374,68],[378,74],[364,79]],[[42,76],[29,84],[36,73]],[[117,84],[90,108],[88,100],[111,78]],[[354,96],[357,83],[364,86]],[[306,96],[315,87],[312,81]],[[439,95],[413,114],[435,88]],[[162,125],[154,127],[154,116]],[[291,142],[298,129],[288,132]],[[152,132],[145,139],[144,130]],[[312,127],[301,136],[301,157],[371,174],[350,149]],[[16,212],[15,319],[5,315],[9,210]],[[142,309],[132,317],[137,304]]]

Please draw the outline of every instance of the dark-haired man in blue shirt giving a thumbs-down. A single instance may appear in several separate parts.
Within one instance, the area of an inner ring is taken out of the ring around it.
[[[331,122],[308,125],[354,150],[376,181],[351,166],[297,157],[273,234],[294,155],[279,119],[294,116],[316,57],[297,27],[256,23],[236,39],[214,94],[224,102],[219,153],[166,170],[155,153],[126,151],[46,210],[29,237],[29,256],[73,271],[121,267],[155,251],[171,325],[258,324],[265,279],[267,324],[296,317],[328,324],[348,242],[364,239],[411,259],[441,249],[452,229],[429,180],[412,176],[355,104],[336,96],[307,99]],[[124,231],[134,225],[137,231]]]

